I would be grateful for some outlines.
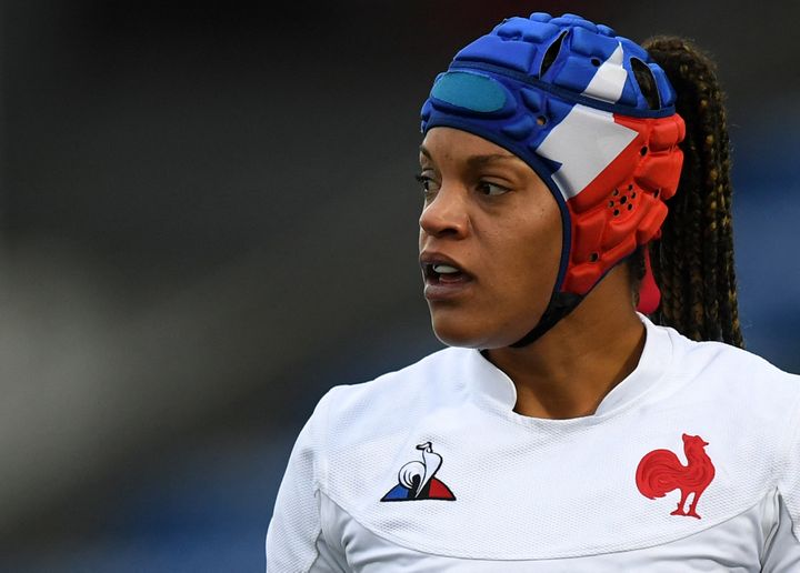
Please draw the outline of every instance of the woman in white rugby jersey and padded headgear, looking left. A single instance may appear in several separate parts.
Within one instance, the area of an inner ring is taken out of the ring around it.
[[[736,348],[720,92],[646,48],[534,13],[437,78],[420,262],[452,348],[320,401],[269,571],[800,571],[800,380]]]

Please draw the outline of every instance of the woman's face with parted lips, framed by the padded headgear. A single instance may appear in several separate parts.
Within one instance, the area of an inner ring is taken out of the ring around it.
[[[420,165],[420,262],[433,331],[454,346],[513,344],[539,322],[556,283],[556,200],[521,159],[466,131],[431,129]]]

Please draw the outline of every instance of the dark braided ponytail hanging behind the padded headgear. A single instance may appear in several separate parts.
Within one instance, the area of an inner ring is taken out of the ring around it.
[[[726,111],[711,60],[680,38],[642,43],[667,72],[686,121],[683,169],[660,241],[651,243],[661,305],[651,315],[694,340],[743,346],[739,325],[731,181]],[[642,87],[644,88],[644,87]],[[643,275],[643,250],[631,258],[631,277]]]

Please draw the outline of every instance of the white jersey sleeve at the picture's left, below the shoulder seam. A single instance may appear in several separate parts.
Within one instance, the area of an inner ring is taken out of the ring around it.
[[[268,573],[344,571],[326,542],[320,515],[324,436],[331,392],[320,400],[294,443],[267,532]]]

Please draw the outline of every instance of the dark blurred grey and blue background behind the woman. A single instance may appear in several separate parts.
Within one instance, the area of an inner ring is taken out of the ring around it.
[[[717,59],[746,341],[800,371],[800,4],[0,6],[1,571],[263,570],[319,398],[440,348],[418,111],[506,16]]]

